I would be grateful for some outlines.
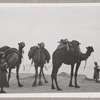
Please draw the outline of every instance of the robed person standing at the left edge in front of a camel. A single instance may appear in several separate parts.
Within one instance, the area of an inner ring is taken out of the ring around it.
[[[3,88],[7,87],[7,76],[6,76],[7,67],[8,66],[5,60],[5,54],[3,52],[0,52],[0,88],[1,88],[0,93],[6,93],[3,90]]]

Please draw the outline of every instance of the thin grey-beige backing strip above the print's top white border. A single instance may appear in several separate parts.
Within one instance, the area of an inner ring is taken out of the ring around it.
[[[0,0],[0,3],[99,3],[100,0]]]

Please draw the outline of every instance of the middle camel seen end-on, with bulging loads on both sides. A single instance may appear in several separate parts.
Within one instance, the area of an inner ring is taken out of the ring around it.
[[[44,64],[46,63],[46,61],[49,62],[50,54],[49,54],[49,52],[44,47],[42,47],[42,44],[43,43],[38,44],[39,47],[37,47],[37,46],[31,47],[31,49],[29,51],[29,54],[31,54],[30,56],[32,57],[31,64],[33,64],[33,62],[34,62],[34,67],[35,67],[35,81],[33,82],[32,86],[37,86],[38,67],[40,67],[39,83],[38,83],[38,85],[42,85],[41,74],[43,75],[45,83],[48,83],[48,81],[45,78],[44,72],[43,72],[43,67],[44,67]],[[34,47],[37,48],[35,50],[35,52],[32,51],[32,49],[34,49]],[[34,52],[34,54],[32,52]],[[45,53],[47,53],[47,54],[45,54]],[[47,58],[46,55],[48,55],[49,57]],[[29,59],[31,59],[31,58],[29,57]]]

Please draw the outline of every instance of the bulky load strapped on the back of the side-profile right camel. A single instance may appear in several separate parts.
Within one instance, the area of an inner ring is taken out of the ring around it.
[[[72,40],[71,42],[69,42],[69,41],[61,42],[58,45],[57,50],[66,47],[66,51],[68,54],[73,55],[73,56],[79,56],[81,53],[79,45],[80,45],[80,43],[76,40]]]

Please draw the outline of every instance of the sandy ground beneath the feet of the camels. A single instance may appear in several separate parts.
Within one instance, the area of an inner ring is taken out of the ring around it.
[[[58,75],[58,84],[62,91],[51,89],[51,77],[46,75],[48,83],[44,83],[42,79],[42,86],[32,87],[34,81],[34,74],[20,74],[20,82],[24,85],[18,87],[16,75],[12,73],[10,79],[10,87],[5,88],[7,93],[72,93],[72,92],[100,92],[100,82],[96,83],[93,79],[88,79],[84,75],[78,75],[78,85],[80,88],[69,87],[70,76],[66,73],[60,73]],[[74,83],[74,79],[73,79]]]

